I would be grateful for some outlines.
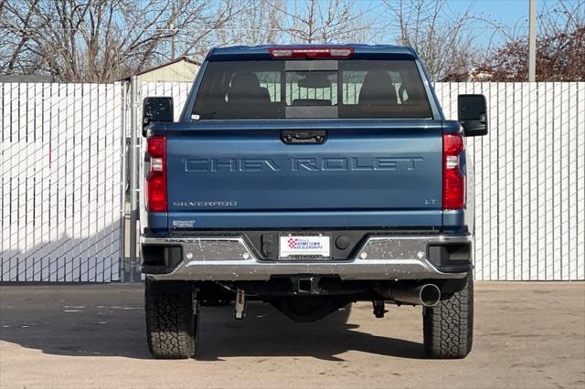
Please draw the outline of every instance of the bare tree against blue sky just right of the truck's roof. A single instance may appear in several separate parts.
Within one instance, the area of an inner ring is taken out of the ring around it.
[[[399,45],[413,47],[431,79],[443,79],[473,66],[477,47],[470,26],[473,4],[463,13],[453,13],[446,0],[385,0],[390,26],[399,27]]]

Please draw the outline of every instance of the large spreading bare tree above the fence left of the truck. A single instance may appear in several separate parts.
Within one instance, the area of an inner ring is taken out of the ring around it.
[[[204,52],[232,11],[205,0],[13,0],[0,12],[0,68],[111,81],[167,59],[171,38],[183,38],[182,55]]]

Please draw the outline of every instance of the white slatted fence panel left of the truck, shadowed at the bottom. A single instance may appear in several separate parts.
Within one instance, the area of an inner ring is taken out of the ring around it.
[[[119,279],[122,88],[0,83],[0,281]]]

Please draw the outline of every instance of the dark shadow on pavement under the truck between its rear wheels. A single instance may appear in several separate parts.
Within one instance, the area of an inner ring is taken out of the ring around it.
[[[244,321],[234,321],[231,310],[213,309],[202,317],[198,360],[234,356],[313,356],[326,361],[344,361],[348,351],[368,352],[400,358],[424,358],[422,344],[358,331],[347,322],[350,307],[321,321],[297,323],[269,304],[251,305]],[[370,320],[370,318],[368,318]],[[371,320],[375,320],[372,316]],[[379,321],[380,325],[390,325]]]

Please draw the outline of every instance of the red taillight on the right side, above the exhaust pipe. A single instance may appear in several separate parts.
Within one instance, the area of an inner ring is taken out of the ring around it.
[[[462,209],[465,205],[465,176],[461,171],[463,136],[442,136],[442,209]]]

